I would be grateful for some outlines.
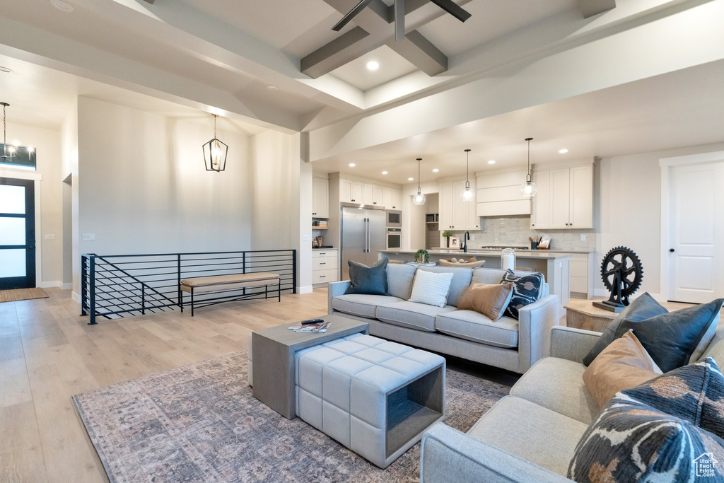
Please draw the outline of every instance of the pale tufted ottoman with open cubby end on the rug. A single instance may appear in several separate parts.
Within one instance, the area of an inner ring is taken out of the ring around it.
[[[445,358],[354,334],[298,351],[297,416],[380,468],[445,419]]]

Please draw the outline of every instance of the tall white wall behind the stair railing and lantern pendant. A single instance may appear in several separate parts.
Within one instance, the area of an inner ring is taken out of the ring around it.
[[[251,248],[248,136],[219,121],[226,170],[207,172],[213,120],[182,120],[78,98],[80,253]],[[75,267],[80,269],[80,266]]]

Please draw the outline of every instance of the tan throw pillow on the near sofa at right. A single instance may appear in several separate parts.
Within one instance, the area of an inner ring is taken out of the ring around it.
[[[614,340],[584,372],[584,384],[599,408],[616,392],[631,389],[662,374],[639,340],[629,330]]]

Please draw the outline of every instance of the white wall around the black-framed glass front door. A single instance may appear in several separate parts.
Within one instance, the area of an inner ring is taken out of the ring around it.
[[[10,122],[7,132],[11,140],[17,139],[22,146],[33,146],[36,150],[36,172],[43,180],[40,182],[40,206],[35,206],[35,211],[41,214],[40,237],[35,240],[35,246],[41,251],[41,278],[35,280],[35,284],[56,287],[63,278],[60,133]],[[7,172],[11,177],[12,172],[28,173],[25,169],[7,169]],[[45,235],[55,235],[55,240],[45,240]]]

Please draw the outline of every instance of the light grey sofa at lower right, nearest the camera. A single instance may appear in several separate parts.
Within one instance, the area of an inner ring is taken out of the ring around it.
[[[518,380],[467,434],[436,424],[422,440],[421,482],[570,482],[578,440],[597,416],[583,358],[600,332],[554,327],[550,357]],[[699,359],[724,361],[724,326]]]

